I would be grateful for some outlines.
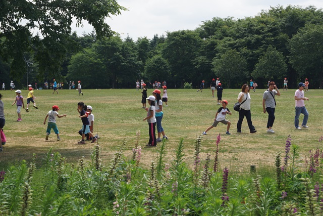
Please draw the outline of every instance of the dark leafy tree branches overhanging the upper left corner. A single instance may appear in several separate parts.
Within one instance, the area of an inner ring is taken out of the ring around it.
[[[0,1],[0,55],[11,65],[17,80],[24,73],[24,53],[34,52],[43,73],[57,75],[72,41],[73,18],[77,25],[86,20],[98,38],[113,35],[104,19],[119,15],[125,8],[115,0],[2,0]],[[32,32],[38,30],[38,34]]]

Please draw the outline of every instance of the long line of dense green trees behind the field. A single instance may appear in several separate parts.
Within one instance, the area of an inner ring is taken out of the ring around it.
[[[244,19],[214,17],[194,30],[156,34],[151,39],[122,39],[116,32],[98,34],[98,29],[82,36],[61,32],[59,41],[50,33],[37,40],[29,37],[29,47],[41,45],[46,52],[24,49],[18,59],[6,55],[11,37],[3,31],[1,76],[22,81],[27,74],[40,81],[82,79],[83,88],[95,89],[135,88],[137,79],[166,80],[169,88],[182,88],[185,82],[198,87],[202,80],[216,77],[225,88],[240,88],[249,79],[260,88],[268,80],[282,87],[287,77],[290,88],[305,78],[310,88],[322,88],[323,11],[314,6],[271,7]],[[28,67],[22,57],[35,64]],[[19,67],[14,65],[17,62]]]

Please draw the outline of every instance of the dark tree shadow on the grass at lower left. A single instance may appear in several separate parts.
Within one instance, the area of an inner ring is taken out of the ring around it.
[[[49,141],[50,142],[50,141]],[[21,158],[31,162],[33,154],[37,154],[35,163],[36,167],[43,165],[43,158],[49,151],[49,147],[34,147],[34,146],[4,146],[3,152],[0,152],[0,170],[6,170],[9,166],[17,165],[20,163]],[[70,149],[62,147],[52,147],[52,152],[59,152],[63,157],[67,158],[68,163],[77,163],[78,160],[84,156],[85,159],[90,159],[93,149]]]

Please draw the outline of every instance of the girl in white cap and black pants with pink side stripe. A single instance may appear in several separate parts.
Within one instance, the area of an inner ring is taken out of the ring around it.
[[[156,146],[156,117],[155,117],[155,97],[150,95],[148,98],[149,108],[146,108],[147,117],[143,121],[147,120],[149,126],[149,142],[146,146]]]

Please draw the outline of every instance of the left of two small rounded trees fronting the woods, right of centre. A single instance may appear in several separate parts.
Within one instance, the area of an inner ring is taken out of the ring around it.
[[[228,50],[220,57],[214,58],[212,65],[212,71],[220,77],[222,83],[227,84],[227,88],[232,84],[241,85],[248,75],[247,62],[236,50]]]

